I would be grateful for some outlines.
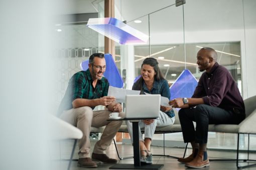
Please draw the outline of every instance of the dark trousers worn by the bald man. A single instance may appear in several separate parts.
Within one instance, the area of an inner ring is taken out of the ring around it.
[[[209,124],[239,124],[245,117],[244,113],[235,113],[206,104],[198,104],[195,108],[182,108],[179,118],[184,142],[195,141],[207,143]],[[196,128],[193,121],[196,122]]]

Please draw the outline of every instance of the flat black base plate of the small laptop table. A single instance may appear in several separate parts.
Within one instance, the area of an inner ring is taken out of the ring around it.
[[[136,166],[134,164],[118,163],[109,167],[109,169],[161,169],[164,164],[145,164]]]

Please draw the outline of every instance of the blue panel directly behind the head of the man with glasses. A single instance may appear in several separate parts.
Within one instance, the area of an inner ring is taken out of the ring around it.
[[[115,65],[114,59],[111,54],[104,54],[106,60],[106,71],[104,72],[104,77],[107,78],[109,84],[113,87],[122,88],[123,80]],[[88,69],[89,60],[82,61],[80,67],[82,70]]]

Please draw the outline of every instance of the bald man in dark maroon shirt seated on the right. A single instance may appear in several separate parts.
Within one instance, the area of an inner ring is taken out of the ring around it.
[[[197,64],[205,72],[191,98],[176,98],[169,102],[179,110],[184,142],[192,145],[192,154],[178,161],[193,168],[209,166],[206,151],[209,124],[239,124],[245,118],[243,99],[238,87],[224,67],[217,62],[217,52],[210,47],[197,53]],[[196,122],[194,128],[193,121]]]

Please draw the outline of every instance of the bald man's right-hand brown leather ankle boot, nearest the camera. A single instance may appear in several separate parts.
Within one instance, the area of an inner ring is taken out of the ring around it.
[[[207,156],[207,152],[199,150],[196,157],[191,162],[186,163],[185,166],[192,168],[201,168],[209,165],[210,162]]]

